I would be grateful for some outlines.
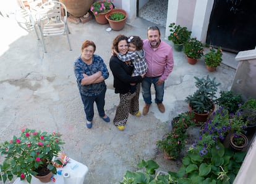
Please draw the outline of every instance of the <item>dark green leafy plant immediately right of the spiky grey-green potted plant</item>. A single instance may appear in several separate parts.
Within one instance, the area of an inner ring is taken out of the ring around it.
[[[234,94],[232,90],[221,90],[220,98],[216,100],[219,106],[226,108],[229,113],[236,113],[239,106],[243,103],[241,94]]]

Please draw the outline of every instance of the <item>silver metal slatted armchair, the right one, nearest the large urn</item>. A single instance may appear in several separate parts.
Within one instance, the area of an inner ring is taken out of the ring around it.
[[[66,6],[58,1],[48,1],[41,6],[40,12],[36,15],[38,20],[38,28],[41,33],[41,40],[45,53],[45,37],[59,36],[66,34],[69,42],[69,50],[71,49],[69,41],[69,28],[67,26],[67,9]]]

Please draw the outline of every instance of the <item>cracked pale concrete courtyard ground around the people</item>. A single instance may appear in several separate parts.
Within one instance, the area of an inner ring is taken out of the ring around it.
[[[1,25],[5,25],[0,30],[0,142],[19,135],[23,127],[60,132],[66,142],[62,149],[64,153],[89,169],[84,184],[117,184],[126,170],[137,170],[137,163],[142,159],[155,159],[161,170],[176,170],[180,163],[164,160],[163,151],[157,149],[155,142],[170,130],[174,116],[188,110],[184,100],[195,90],[194,76],[209,74],[221,82],[219,90],[229,90],[236,72],[235,54],[224,52],[223,64],[217,71],[209,73],[203,59],[196,65],[189,65],[183,52],[174,51],[174,70],[165,82],[164,114],[153,104],[147,116],[130,115],[126,129],[121,132],[112,121],[106,123],[99,118],[95,108],[93,127],[87,129],[73,71],[82,42],[85,39],[95,42],[95,54],[103,58],[109,70],[114,37],[126,34],[146,39],[147,28],[152,23],[136,18],[126,24],[124,30],[110,32],[106,31],[108,24],[99,25],[94,19],[85,24],[70,23],[72,51],[66,37],[61,36],[46,38],[48,53],[45,54],[35,32],[22,27],[25,20],[19,21],[17,24],[12,16],[0,18]],[[165,29],[160,26],[160,30],[164,35]],[[105,110],[113,120],[119,95],[114,94],[110,70],[106,84]],[[139,103],[142,111],[141,94]]]

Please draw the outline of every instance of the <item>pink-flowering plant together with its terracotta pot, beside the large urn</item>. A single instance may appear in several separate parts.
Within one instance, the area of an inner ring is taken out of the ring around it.
[[[90,7],[91,12],[95,16],[96,22],[100,24],[108,23],[105,15],[114,8],[112,0],[96,1]]]

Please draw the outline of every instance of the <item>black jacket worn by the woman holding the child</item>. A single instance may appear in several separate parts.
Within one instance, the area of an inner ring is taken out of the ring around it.
[[[116,94],[127,94],[130,91],[130,83],[142,82],[142,76],[131,76],[134,71],[132,64],[127,65],[114,55],[110,58],[109,66],[114,76]]]

